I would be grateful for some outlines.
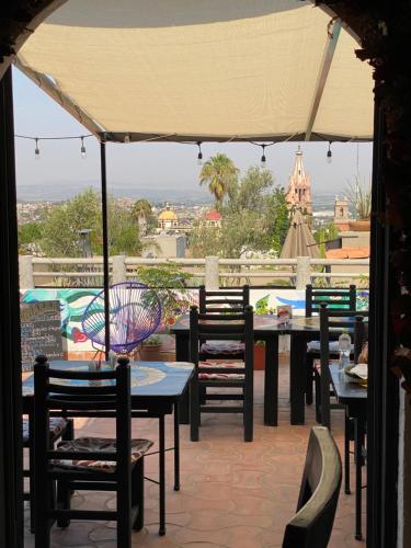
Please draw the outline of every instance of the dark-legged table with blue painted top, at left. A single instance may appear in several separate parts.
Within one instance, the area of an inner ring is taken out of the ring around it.
[[[87,370],[89,362],[52,361],[54,368]],[[104,364],[102,369],[104,369]],[[159,420],[159,534],[165,534],[165,424],[167,414],[174,412],[174,490],[180,490],[179,403],[187,391],[193,365],[187,362],[130,362],[132,415]],[[23,413],[28,415],[33,439],[34,375],[23,380]],[[76,412],[81,416],[81,411]],[[89,416],[89,415],[88,415]],[[100,413],[98,416],[102,416]],[[31,464],[32,466],[32,464]]]

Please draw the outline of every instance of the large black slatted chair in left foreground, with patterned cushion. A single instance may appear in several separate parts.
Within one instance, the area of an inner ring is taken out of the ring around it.
[[[49,413],[115,418],[114,438],[79,437],[50,446]],[[144,525],[144,455],[148,439],[130,437],[128,358],[114,370],[52,369],[45,356],[34,366],[35,547],[50,546],[50,526],[70,520],[117,522],[117,546],[130,548],[132,527]],[[57,482],[57,500],[55,484]],[[71,490],[115,491],[116,510],[71,510]]]

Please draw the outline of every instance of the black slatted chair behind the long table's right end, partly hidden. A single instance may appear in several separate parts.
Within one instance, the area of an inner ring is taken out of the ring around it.
[[[306,286],[306,318],[318,316],[321,304],[328,304],[332,310],[355,310],[356,309],[356,286],[350,287],[312,287]],[[332,356],[338,356],[336,342],[331,340],[330,352]],[[320,341],[309,341],[306,353],[306,403],[312,403],[312,386],[315,383],[313,361],[320,357]]]

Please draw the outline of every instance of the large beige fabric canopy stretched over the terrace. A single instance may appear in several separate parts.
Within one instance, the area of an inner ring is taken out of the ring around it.
[[[357,47],[297,0],[69,0],[16,65],[107,140],[369,140]]]

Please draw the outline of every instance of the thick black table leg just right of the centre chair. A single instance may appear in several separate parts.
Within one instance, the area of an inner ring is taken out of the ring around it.
[[[278,336],[265,340],[264,424],[278,423]]]

